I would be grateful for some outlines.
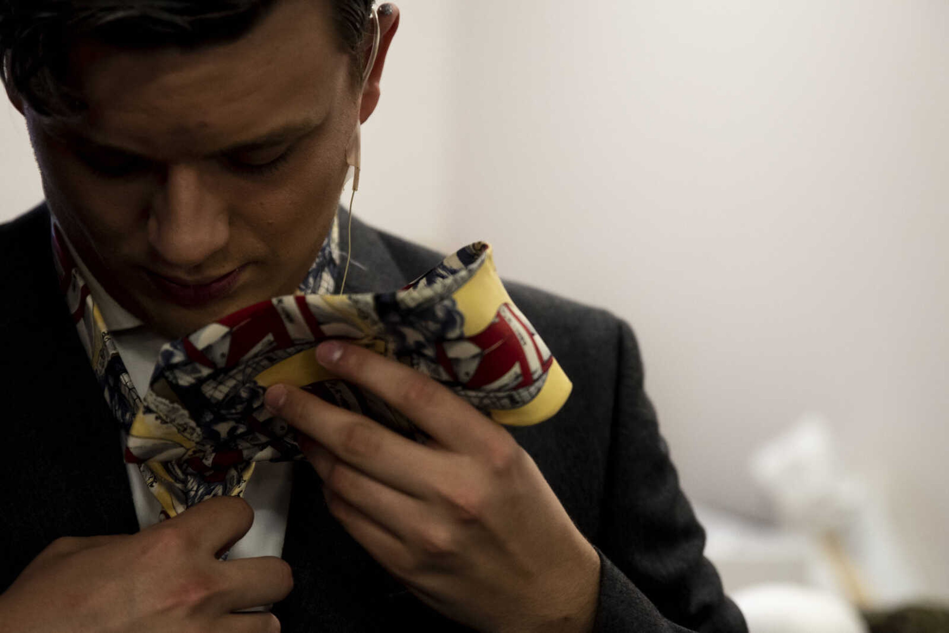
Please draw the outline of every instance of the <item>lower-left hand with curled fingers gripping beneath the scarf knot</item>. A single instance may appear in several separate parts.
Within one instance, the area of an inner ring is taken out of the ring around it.
[[[18,633],[276,633],[270,613],[290,568],[266,556],[219,561],[251,529],[243,499],[218,497],[132,535],[60,538],[0,595],[0,630]]]

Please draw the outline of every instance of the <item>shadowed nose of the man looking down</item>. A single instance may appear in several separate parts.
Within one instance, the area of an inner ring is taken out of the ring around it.
[[[148,241],[165,263],[195,268],[227,244],[227,206],[194,166],[168,167],[164,185],[149,214]]]

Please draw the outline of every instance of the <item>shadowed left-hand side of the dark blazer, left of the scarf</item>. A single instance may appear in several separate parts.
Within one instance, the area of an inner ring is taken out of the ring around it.
[[[15,239],[4,294],[15,309],[4,310],[0,331],[4,358],[17,371],[4,372],[2,424],[19,456],[0,460],[4,505],[12,511],[0,512],[0,559],[11,563],[5,571],[18,573],[60,536],[131,533],[138,521],[118,425],[59,291],[48,213],[41,207],[8,230]]]

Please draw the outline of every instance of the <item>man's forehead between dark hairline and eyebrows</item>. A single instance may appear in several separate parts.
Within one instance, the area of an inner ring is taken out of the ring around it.
[[[88,103],[69,132],[144,156],[195,155],[325,117],[347,91],[349,56],[328,3],[281,0],[242,38],[183,50],[82,41],[70,76]]]

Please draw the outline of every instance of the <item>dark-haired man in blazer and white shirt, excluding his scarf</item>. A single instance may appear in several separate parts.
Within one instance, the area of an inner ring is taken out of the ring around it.
[[[0,229],[0,630],[744,630],[702,557],[628,326],[523,287],[514,302],[574,382],[553,419],[509,431],[400,363],[322,344],[320,363],[432,440],[275,385],[268,405],[312,439],[309,463],[261,463],[247,501],[157,523],[122,463],[51,223],[142,391],[161,344],[323,273],[399,12],[373,18],[365,0],[0,8],[4,81],[47,195]],[[358,222],[352,241],[364,268],[347,291],[400,288],[440,259]]]

